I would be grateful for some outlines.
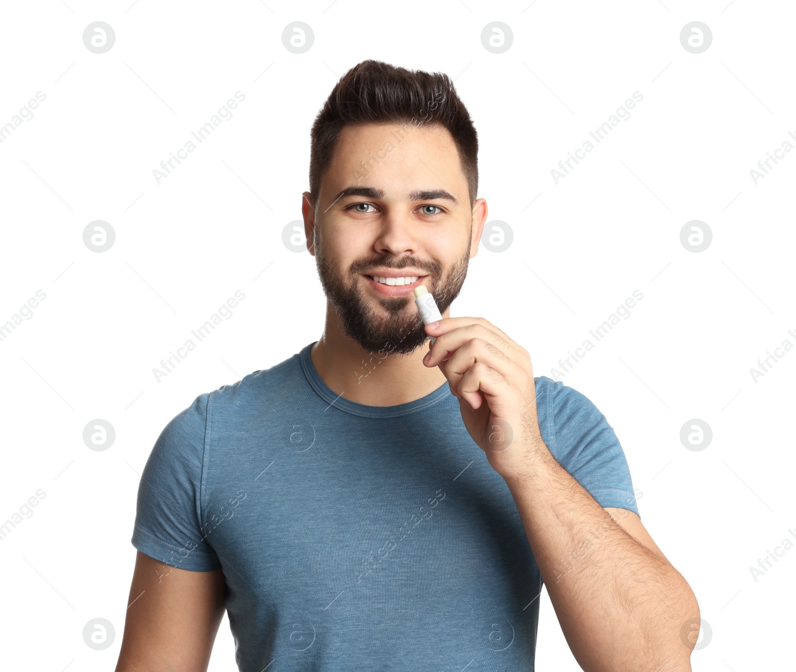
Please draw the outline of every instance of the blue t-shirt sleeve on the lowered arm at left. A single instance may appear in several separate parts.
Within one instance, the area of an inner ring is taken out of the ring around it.
[[[146,460],[131,542],[166,565],[198,572],[220,568],[201,519],[209,393],[200,394],[163,429]]]

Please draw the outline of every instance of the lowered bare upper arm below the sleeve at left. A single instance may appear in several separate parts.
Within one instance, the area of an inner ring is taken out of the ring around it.
[[[115,672],[205,672],[224,590],[220,569],[191,572],[139,551]]]

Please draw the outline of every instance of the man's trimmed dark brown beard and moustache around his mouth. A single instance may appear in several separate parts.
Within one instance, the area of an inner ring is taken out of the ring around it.
[[[451,266],[444,277],[439,262],[423,262],[415,257],[404,257],[397,261],[395,257],[380,256],[353,262],[344,278],[324,258],[320,245],[316,245],[315,251],[315,265],[323,291],[338,312],[345,336],[359,344],[365,352],[387,352],[388,355],[415,352],[430,336],[425,332],[413,294],[400,298],[380,297],[377,301],[381,309],[374,309],[364,297],[365,289],[360,286],[366,282],[362,273],[375,266],[394,270],[412,266],[425,270],[427,277],[431,278],[427,285],[428,292],[433,295],[439,313],[444,314],[462,289],[470,262],[468,242],[462,258]]]

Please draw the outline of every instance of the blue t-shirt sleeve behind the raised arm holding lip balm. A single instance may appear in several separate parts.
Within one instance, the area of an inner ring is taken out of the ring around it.
[[[601,507],[638,515],[630,468],[614,429],[584,394],[560,380],[548,381],[550,452]]]

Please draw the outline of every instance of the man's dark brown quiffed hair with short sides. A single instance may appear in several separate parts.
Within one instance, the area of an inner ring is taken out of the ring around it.
[[[321,175],[329,166],[343,126],[400,123],[444,126],[453,136],[467,179],[470,207],[478,192],[478,134],[470,113],[441,72],[396,68],[380,60],[363,60],[332,89],[310,131],[310,196],[318,204]]]

